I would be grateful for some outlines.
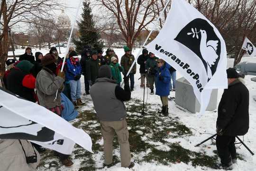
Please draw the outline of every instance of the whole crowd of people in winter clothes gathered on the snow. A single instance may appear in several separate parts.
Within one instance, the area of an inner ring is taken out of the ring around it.
[[[61,117],[64,109],[61,102],[61,92],[64,92],[74,106],[83,104],[80,79],[81,75],[84,75],[85,94],[91,95],[96,115],[101,124],[101,133],[104,140],[104,167],[113,165],[112,143],[116,133],[120,145],[121,166],[132,168],[135,164],[131,162],[126,122],[127,112],[124,101],[131,99],[131,91],[134,90],[136,65],[128,74],[135,58],[127,46],[124,47],[124,51],[125,54],[121,57],[119,64],[118,56],[111,49],[107,49],[106,55],[102,56],[102,50],[94,51],[90,47],[85,47],[82,58],[79,60],[78,54],[71,47],[66,56],[64,70],[61,72],[64,61],[58,56],[55,47],[51,48],[46,55],[37,52],[36,58],[33,56],[31,48],[28,47],[26,53],[19,57],[19,61],[8,60],[6,62],[8,67],[3,79],[4,86],[10,92],[31,102],[38,102],[39,105]],[[139,56],[137,63],[140,64],[141,87],[149,87],[151,93],[154,94],[155,83],[155,94],[161,97],[163,104],[161,113],[168,115],[168,95],[170,90],[175,89],[175,69],[163,59],[155,57],[155,54],[148,54],[146,49]],[[124,75],[124,89],[120,87],[121,72]],[[245,135],[249,128],[249,94],[235,69],[228,69],[227,74],[229,88],[224,91],[219,103],[216,145],[223,168],[229,169],[232,162],[235,163],[237,158],[234,144],[235,137]],[[173,79],[172,85],[171,78]],[[0,144],[1,146],[5,145],[5,150],[13,151],[15,150],[15,147],[13,147],[15,144],[21,144],[21,146],[23,144],[27,147],[30,143],[27,141],[20,142],[19,140],[15,142],[0,140]],[[11,148],[6,148],[7,146]],[[37,150],[27,147],[28,151],[37,153],[37,151],[43,152],[44,150],[43,147],[37,144],[33,144],[33,146]],[[21,152],[20,146],[18,146],[16,152]],[[4,151],[4,153],[9,153],[9,151]],[[37,154],[39,155],[39,153]],[[69,155],[56,154],[65,166],[73,165]],[[20,163],[16,163],[15,167],[18,164]],[[27,164],[26,167],[29,167],[32,171],[38,161],[34,162],[33,165],[31,163]],[[6,164],[6,168],[8,167],[9,165]],[[15,167],[10,167],[9,171],[18,170]],[[21,171],[26,170],[19,169]]]

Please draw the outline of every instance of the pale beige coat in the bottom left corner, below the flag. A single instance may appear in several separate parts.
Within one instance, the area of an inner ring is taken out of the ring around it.
[[[22,146],[21,146],[21,144]],[[32,144],[27,140],[0,139],[0,171],[35,171],[39,162],[40,154]],[[26,162],[26,156],[34,156],[37,154],[37,162]],[[34,152],[35,150],[35,152]]]

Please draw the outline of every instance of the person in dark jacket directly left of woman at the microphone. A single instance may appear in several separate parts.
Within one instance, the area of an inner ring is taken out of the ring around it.
[[[147,80],[149,88],[151,90],[150,94],[154,94],[154,83],[155,83],[155,74],[158,70],[157,68],[158,57],[153,53],[149,53],[149,58],[146,60],[146,70],[147,70]]]

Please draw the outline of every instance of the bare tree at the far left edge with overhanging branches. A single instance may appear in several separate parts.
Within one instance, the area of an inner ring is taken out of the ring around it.
[[[49,18],[58,9],[57,0],[1,0],[0,1],[0,75],[5,72],[8,57],[9,28],[32,22],[33,18]],[[47,9],[47,10],[46,10]]]

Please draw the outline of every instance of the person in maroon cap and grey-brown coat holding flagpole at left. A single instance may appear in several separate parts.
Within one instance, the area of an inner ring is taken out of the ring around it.
[[[61,104],[60,94],[64,90],[65,74],[64,72],[58,71],[56,76],[57,59],[54,54],[46,54],[42,58],[41,64],[43,68],[37,74],[36,79],[38,103],[61,117],[63,106]],[[58,94],[55,100],[57,90]],[[65,166],[73,165],[73,162],[69,159],[69,155],[58,153],[58,156]]]

